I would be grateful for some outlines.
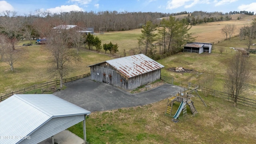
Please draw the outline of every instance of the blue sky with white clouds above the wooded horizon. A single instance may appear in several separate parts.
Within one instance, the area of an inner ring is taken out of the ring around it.
[[[230,12],[246,10],[256,14],[256,0],[0,0],[0,12],[11,10],[19,15],[35,10],[53,13],[70,11],[118,12]]]

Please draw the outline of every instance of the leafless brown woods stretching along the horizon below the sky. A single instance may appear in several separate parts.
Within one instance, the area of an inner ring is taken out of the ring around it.
[[[244,12],[244,11],[242,11]],[[246,11],[244,12],[246,13]],[[248,12],[250,13],[250,12]],[[24,14],[18,16],[14,11],[4,11],[0,14],[0,29],[6,30],[8,28],[18,32],[13,33],[14,36],[20,35],[20,38],[39,38],[43,37],[37,27],[49,25],[53,28],[62,24],[78,25],[80,27],[94,27],[94,30],[121,31],[142,28],[147,21],[153,24],[159,24],[160,18],[168,16],[176,16],[180,14],[188,14],[184,16],[191,25],[202,22],[215,22],[230,20],[231,16],[228,13],[222,12],[177,12],[177,13],[160,13],[160,12],[117,12],[117,11],[100,11],[100,12],[82,12],[70,11],[51,13],[48,11],[35,10],[34,14]],[[250,14],[253,14],[252,12]],[[8,22],[6,21],[8,19]],[[182,18],[180,18],[182,19]],[[55,21],[55,22],[54,22]],[[58,23],[56,23],[58,22]],[[12,28],[10,26],[12,25]]]

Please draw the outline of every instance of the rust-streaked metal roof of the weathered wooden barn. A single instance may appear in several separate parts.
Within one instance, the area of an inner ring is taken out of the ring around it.
[[[159,64],[144,54],[116,58],[107,60],[106,62],[128,78],[164,68],[162,64]]]

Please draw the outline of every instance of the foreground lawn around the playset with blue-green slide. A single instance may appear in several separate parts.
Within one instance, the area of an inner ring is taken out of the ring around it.
[[[179,102],[175,102],[172,115],[164,114],[168,100],[146,106],[93,112],[86,119],[86,137],[90,144],[254,144],[256,114],[254,107],[202,97],[192,98],[198,114],[172,122]],[[68,128],[83,138],[82,122]]]

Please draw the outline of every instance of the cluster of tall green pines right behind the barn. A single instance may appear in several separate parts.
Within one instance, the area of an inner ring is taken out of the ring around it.
[[[168,20],[162,19],[159,25],[148,21],[142,26],[138,47],[132,51],[134,54],[142,53],[155,60],[176,54],[186,42],[195,40],[192,34],[188,33],[191,27],[186,18],[179,20],[173,16]]]

